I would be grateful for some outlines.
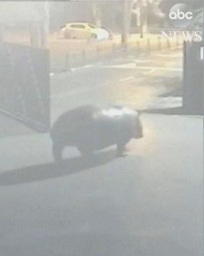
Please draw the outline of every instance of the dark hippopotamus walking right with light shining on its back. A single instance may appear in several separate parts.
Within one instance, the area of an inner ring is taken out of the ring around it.
[[[127,107],[84,105],[63,113],[51,129],[52,153],[62,160],[65,147],[76,147],[82,155],[90,155],[111,145],[117,145],[122,156],[126,144],[143,137],[137,111]]]

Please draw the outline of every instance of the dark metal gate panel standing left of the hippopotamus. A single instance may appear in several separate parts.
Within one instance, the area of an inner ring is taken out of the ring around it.
[[[49,51],[0,43],[0,111],[37,131],[49,130]]]

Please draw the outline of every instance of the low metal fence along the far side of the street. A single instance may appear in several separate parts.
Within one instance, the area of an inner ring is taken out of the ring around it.
[[[74,43],[74,40],[73,42]],[[74,67],[98,63],[108,59],[118,57],[128,57],[130,55],[150,54],[152,51],[161,51],[162,49],[172,49],[183,44],[183,40],[178,37],[176,41],[164,37],[146,38],[136,40],[122,45],[121,43],[90,43],[86,46],[74,50],[69,49],[68,42],[56,43],[51,50],[51,71],[68,71]]]

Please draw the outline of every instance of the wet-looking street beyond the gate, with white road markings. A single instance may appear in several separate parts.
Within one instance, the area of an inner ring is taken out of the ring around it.
[[[56,73],[52,75],[52,119],[87,103],[153,107],[159,95],[181,87],[181,77],[182,51],[130,56]]]

